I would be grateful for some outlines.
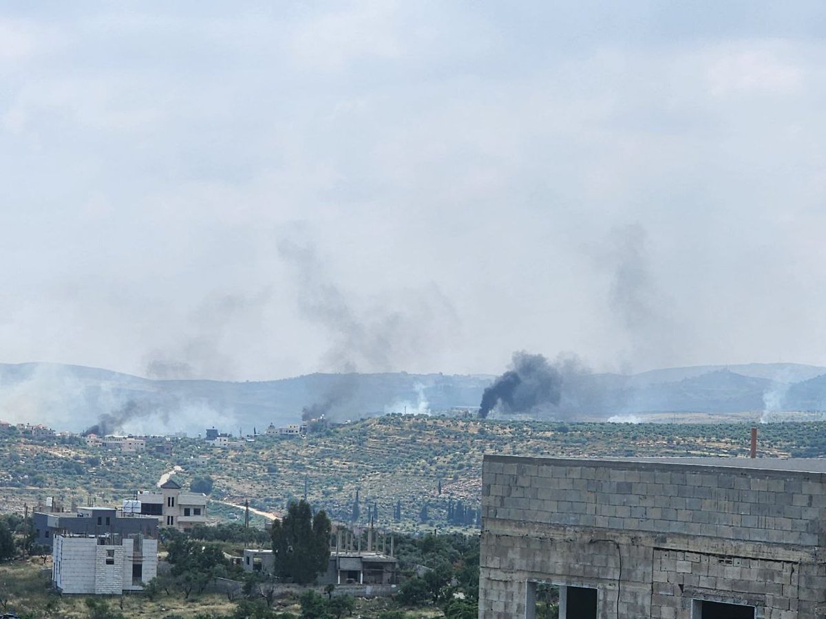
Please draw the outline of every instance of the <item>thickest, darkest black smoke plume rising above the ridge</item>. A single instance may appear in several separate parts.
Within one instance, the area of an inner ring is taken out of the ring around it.
[[[512,370],[497,378],[482,394],[479,417],[501,407],[504,413],[528,413],[557,406],[562,396],[562,375],[543,355],[515,352]]]

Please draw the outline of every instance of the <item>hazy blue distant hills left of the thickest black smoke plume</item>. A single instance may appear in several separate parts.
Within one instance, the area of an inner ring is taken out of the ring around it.
[[[311,374],[283,380],[149,380],[51,363],[0,364],[0,419],[81,432],[110,415],[124,432],[237,434],[297,423],[316,406],[341,421],[387,412],[476,407],[491,376]]]

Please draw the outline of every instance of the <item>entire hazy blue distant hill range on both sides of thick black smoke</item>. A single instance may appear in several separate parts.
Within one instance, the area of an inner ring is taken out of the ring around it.
[[[311,374],[282,380],[150,380],[83,366],[0,364],[0,419],[83,431],[187,432],[215,426],[259,432],[297,423],[305,408],[339,421],[382,413],[475,409],[494,376]],[[791,363],[667,368],[638,375],[568,376],[564,419],[652,412],[737,413],[826,409],[826,368]]]

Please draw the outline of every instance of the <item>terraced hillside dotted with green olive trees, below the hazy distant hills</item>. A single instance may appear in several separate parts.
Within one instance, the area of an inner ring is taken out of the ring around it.
[[[478,507],[486,452],[744,456],[748,428],[745,423],[563,424],[387,415],[308,437],[257,437],[229,449],[179,439],[173,456],[126,455],[87,447],[78,437],[36,441],[7,432],[0,436],[0,494],[7,511],[46,496],[66,505],[73,499],[119,502],[137,489],[153,488],[164,471],[179,465],[174,477],[182,484],[208,475],[215,480],[213,499],[235,504],[249,499],[263,513],[278,513],[306,489],[316,506],[349,521],[358,491],[363,525],[375,512],[378,527],[445,529],[458,526],[447,519],[458,501],[465,513]],[[760,448],[761,456],[823,456],[826,424],[763,424]],[[212,503],[213,514],[226,517],[233,511]],[[472,517],[466,521],[472,524]]]

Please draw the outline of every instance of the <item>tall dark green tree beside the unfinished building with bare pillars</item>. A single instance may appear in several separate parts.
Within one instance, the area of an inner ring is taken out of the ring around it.
[[[273,521],[275,573],[298,584],[309,584],[327,569],[330,558],[330,518],[324,510],[312,513],[304,499],[291,501],[287,515]]]

